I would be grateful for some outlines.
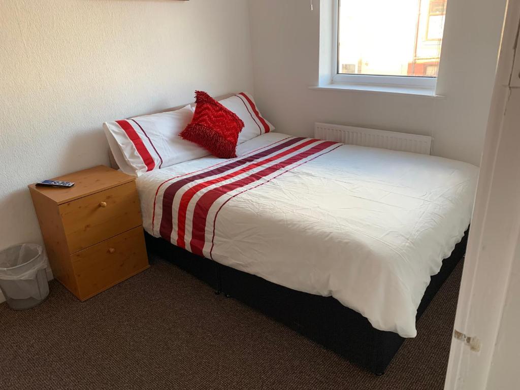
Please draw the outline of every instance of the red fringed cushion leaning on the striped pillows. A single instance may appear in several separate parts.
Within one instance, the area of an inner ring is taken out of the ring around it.
[[[244,122],[233,112],[202,91],[195,92],[195,113],[191,123],[180,133],[222,159],[237,157],[238,135]]]

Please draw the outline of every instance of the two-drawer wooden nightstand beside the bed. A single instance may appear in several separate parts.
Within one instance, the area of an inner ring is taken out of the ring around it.
[[[149,267],[135,177],[106,166],[29,186],[53,274],[80,300]]]

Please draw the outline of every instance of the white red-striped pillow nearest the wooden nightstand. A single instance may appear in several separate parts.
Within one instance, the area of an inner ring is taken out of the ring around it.
[[[176,111],[105,122],[103,129],[107,138],[115,139],[119,146],[120,151],[112,151],[114,157],[122,153],[126,160],[125,168],[125,164],[117,161],[123,172],[139,176],[209,154],[205,149],[179,136],[192,118],[193,110],[186,106]],[[112,145],[113,142],[111,147]]]

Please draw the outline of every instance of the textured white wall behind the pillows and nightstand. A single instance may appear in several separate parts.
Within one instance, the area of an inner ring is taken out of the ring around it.
[[[252,91],[244,0],[2,0],[0,26],[0,248],[42,242],[28,184],[108,164],[102,122]]]

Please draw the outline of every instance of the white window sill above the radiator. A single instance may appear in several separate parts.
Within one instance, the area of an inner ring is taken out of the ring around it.
[[[373,94],[398,94],[404,96],[425,96],[443,99],[445,96],[435,95],[434,87],[413,87],[409,85],[382,85],[382,84],[346,84],[331,83],[317,87],[309,87],[316,90],[333,90],[345,92],[365,92]]]

